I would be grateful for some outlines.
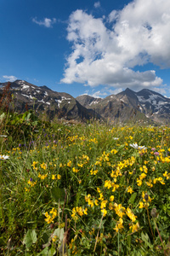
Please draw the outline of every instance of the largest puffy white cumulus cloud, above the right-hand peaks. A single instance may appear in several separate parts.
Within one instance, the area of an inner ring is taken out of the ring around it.
[[[160,86],[154,70],[139,72],[138,67],[150,62],[170,67],[169,27],[170,2],[164,0],[135,0],[106,19],[77,9],[67,27],[72,50],[61,82],[121,90]]]

